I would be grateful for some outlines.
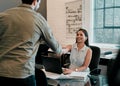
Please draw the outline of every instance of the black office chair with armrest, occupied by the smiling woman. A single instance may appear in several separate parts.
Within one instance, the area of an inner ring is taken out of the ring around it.
[[[99,61],[100,61],[100,48],[97,46],[90,46],[92,49],[92,59],[89,65],[90,68],[90,82],[92,86],[96,86],[99,82],[99,74],[101,72],[101,69],[98,69]]]

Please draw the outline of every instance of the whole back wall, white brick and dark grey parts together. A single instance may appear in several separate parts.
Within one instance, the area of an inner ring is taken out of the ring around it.
[[[76,0],[42,0],[42,8],[38,9],[43,14],[48,23],[50,24],[53,34],[60,44],[66,45],[75,42],[75,38],[66,38],[66,14],[65,14],[65,3],[76,1]],[[86,28],[88,32],[90,30],[90,2],[91,0],[83,0],[83,21],[82,27]],[[47,7],[46,7],[47,3]],[[0,12],[15,7],[21,4],[21,0],[0,0]],[[41,10],[42,9],[42,10]],[[47,10],[47,12],[46,12]],[[90,37],[91,34],[89,34]]]

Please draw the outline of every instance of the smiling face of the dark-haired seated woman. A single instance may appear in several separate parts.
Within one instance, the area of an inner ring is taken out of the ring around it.
[[[78,31],[76,34],[76,42],[77,43],[84,43],[87,40],[87,37],[83,33],[83,31]]]

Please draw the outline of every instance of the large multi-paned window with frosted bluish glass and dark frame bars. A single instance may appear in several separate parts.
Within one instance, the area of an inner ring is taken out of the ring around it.
[[[94,43],[120,41],[120,0],[94,0]]]

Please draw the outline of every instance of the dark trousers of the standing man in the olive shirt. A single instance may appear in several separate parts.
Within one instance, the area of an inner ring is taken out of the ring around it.
[[[33,75],[24,79],[0,76],[0,84],[0,86],[36,86],[36,80]]]

